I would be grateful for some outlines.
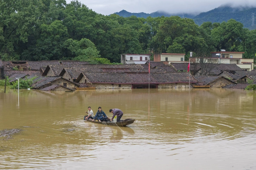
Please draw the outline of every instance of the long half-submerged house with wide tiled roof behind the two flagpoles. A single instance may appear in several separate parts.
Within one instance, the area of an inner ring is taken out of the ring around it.
[[[188,73],[82,73],[84,83],[91,83],[96,89],[122,88],[188,88],[189,83],[196,83]],[[149,76],[149,77],[148,77]],[[149,82],[148,82],[149,78]],[[77,79],[77,81],[78,81]],[[149,85],[148,85],[149,84]]]

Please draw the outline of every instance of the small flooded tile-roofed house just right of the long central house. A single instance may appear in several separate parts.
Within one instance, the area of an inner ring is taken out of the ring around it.
[[[237,84],[223,76],[195,76],[195,79],[198,82],[192,84],[194,88],[220,88],[230,84]]]

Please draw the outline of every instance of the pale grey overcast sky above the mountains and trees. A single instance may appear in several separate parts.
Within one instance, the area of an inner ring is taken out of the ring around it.
[[[69,4],[71,0],[66,0]],[[103,15],[120,12],[123,9],[132,13],[152,13],[165,11],[178,12],[207,12],[220,5],[231,4],[233,6],[256,7],[256,0],[78,0],[92,11]]]

